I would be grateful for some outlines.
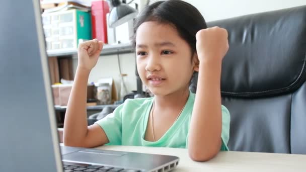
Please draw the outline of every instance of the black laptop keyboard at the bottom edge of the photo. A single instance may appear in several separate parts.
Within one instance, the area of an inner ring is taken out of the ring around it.
[[[103,166],[103,165],[91,165],[91,164],[85,164],[85,163],[74,163],[74,162],[64,162],[63,161],[63,167],[64,172],[140,172],[140,170],[137,169],[124,169],[124,168],[118,168],[114,166]]]

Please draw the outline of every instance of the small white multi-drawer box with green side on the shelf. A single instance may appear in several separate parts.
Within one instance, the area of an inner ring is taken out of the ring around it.
[[[91,14],[72,9],[54,13],[43,13],[47,51],[75,51],[80,39],[92,39]]]

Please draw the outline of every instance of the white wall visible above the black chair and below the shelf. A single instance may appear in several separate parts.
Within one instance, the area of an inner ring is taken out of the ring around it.
[[[140,0],[142,1],[142,0]],[[226,19],[247,14],[260,13],[296,6],[306,5],[306,0],[185,0],[197,7],[202,13],[206,22]],[[136,90],[135,77],[135,54],[121,54],[121,69],[127,73],[127,89]],[[74,68],[77,66],[74,59]],[[102,56],[98,64],[90,74],[89,81],[96,81],[100,77],[112,76],[115,79],[117,88],[120,86],[119,69],[117,56]]]

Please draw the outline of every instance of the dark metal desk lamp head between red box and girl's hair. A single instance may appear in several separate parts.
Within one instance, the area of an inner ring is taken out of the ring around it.
[[[120,0],[108,0],[111,7],[111,12],[108,18],[110,28],[115,28],[129,20],[135,18],[138,14],[136,9],[133,9],[127,4],[123,4]]]

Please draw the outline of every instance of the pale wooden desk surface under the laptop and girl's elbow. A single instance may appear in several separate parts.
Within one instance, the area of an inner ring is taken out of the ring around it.
[[[255,152],[219,152],[207,162],[196,162],[189,158],[187,149],[138,146],[100,146],[98,149],[132,151],[152,154],[165,154],[180,157],[179,171],[306,171],[306,155],[255,153]]]

